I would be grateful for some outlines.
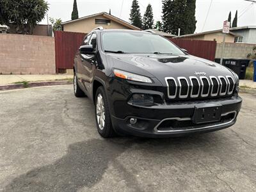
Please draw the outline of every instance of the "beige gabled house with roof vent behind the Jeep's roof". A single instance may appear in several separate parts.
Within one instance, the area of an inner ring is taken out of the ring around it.
[[[129,22],[119,19],[106,12],[88,15],[76,20],[68,20],[62,23],[63,31],[90,33],[95,28],[103,26],[104,29],[132,29],[141,30],[136,26],[132,26]]]

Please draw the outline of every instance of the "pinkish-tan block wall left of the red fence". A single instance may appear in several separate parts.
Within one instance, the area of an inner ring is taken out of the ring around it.
[[[0,34],[2,74],[55,74],[54,38]]]

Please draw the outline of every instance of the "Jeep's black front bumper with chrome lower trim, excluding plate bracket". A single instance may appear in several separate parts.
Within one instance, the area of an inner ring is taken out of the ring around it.
[[[152,89],[138,91],[134,87],[127,87],[123,90],[125,92],[116,92],[116,90],[108,92],[113,128],[119,134],[141,137],[177,137],[225,129],[236,123],[242,104],[241,97],[235,94],[233,97],[221,99],[184,100],[163,102],[156,106],[133,106],[127,103],[129,95],[137,92],[155,94],[157,89],[152,87]],[[161,92],[158,93],[161,94]],[[221,121],[194,124],[192,118],[195,106],[198,104],[221,106]],[[130,123],[131,118],[137,119],[136,124]]]

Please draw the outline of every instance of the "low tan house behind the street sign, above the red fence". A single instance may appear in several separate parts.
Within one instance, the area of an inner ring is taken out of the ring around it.
[[[233,33],[230,31],[226,35],[225,42],[234,43],[237,37],[241,37],[241,35],[237,35],[236,33]],[[174,38],[183,38],[183,39],[191,39],[191,40],[208,40],[208,41],[215,40],[217,43],[221,43],[223,42],[223,33],[222,33],[222,29],[219,29],[214,31],[205,31],[202,33],[181,35],[181,36],[176,36]]]

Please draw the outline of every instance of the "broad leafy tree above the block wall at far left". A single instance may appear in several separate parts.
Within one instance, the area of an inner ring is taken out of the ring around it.
[[[15,27],[16,33],[33,34],[48,9],[44,0],[1,0],[0,23]]]

